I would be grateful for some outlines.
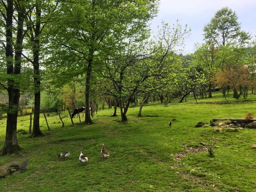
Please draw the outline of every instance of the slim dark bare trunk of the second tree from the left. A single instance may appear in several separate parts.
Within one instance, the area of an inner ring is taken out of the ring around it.
[[[40,25],[41,25],[41,8],[40,5],[36,7],[36,28],[35,28],[35,37],[31,35],[31,41],[33,42],[33,67],[34,67],[34,91],[35,91],[35,104],[34,104],[34,120],[33,120],[33,132],[32,138],[43,136],[40,130],[40,71],[39,71],[39,35],[40,35]],[[33,33],[33,31],[32,31]]]

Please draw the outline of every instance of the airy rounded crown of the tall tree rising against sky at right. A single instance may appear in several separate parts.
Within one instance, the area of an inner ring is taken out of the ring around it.
[[[218,10],[203,31],[206,43],[218,47],[230,43],[243,45],[250,38],[249,33],[241,30],[236,12],[228,7]]]

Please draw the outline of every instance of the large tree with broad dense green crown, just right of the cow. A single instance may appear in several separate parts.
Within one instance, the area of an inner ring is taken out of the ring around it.
[[[92,123],[89,108],[93,68],[101,62],[102,55],[115,52],[124,38],[144,31],[147,22],[155,17],[157,8],[158,0],[73,0],[60,3],[51,28],[55,34],[52,47],[56,45],[51,64],[60,74],[73,70],[85,74],[85,124]],[[64,54],[73,61],[67,62],[69,58],[64,61]]]

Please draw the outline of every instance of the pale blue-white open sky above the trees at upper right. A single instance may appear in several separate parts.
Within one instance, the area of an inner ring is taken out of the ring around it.
[[[158,16],[151,21],[150,28],[157,32],[161,22],[187,24],[191,36],[185,39],[183,55],[194,53],[195,43],[203,42],[203,27],[210,23],[215,13],[224,7],[236,12],[241,29],[256,36],[256,0],[160,0]]]

